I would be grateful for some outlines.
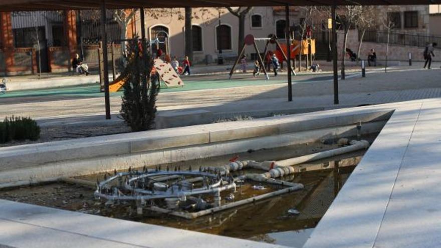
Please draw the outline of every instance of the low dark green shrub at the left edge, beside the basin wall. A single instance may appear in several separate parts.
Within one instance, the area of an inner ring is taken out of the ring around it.
[[[38,140],[40,127],[29,117],[6,117],[0,122],[0,143],[11,140]]]

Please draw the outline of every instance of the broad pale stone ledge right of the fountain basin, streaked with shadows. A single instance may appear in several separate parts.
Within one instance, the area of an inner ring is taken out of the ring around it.
[[[397,105],[305,248],[441,245],[440,107]]]

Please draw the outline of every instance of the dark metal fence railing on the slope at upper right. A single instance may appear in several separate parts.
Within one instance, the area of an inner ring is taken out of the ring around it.
[[[361,39],[361,31],[358,32],[358,40]],[[363,42],[387,43],[387,32],[366,31]],[[389,33],[389,44],[400,46],[425,47],[429,43],[441,44],[441,37],[428,35],[411,35],[403,33]]]

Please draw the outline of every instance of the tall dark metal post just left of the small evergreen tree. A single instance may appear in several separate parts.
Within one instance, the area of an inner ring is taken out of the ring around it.
[[[110,120],[109,65],[107,59],[106,0],[101,1],[101,41],[103,43],[104,103],[106,120]]]

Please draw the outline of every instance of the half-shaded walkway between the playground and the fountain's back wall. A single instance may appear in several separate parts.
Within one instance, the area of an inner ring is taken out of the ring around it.
[[[340,104],[334,105],[332,80],[296,83],[294,100],[286,101],[286,85],[270,84],[223,89],[160,93],[158,127],[210,123],[217,119],[247,115],[266,117],[367,104],[381,104],[441,97],[441,70],[395,69],[388,73],[369,73],[366,78],[354,75],[340,81]],[[1,102],[2,99],[0,99]],[[23,100],[17,99],[21,102]],[[0,117],[31,116],[42,125],[106,125],[102,98],[43,101],[3,105]],[[119,112],[120,97],[111,98],[114,117]],[[189,118],[180,118],[188,115]],[[191,117],[191,118],[190,118]],[[189,120],[198,120],[190,123]],[[112,123],[121,121],[113,118]]]

